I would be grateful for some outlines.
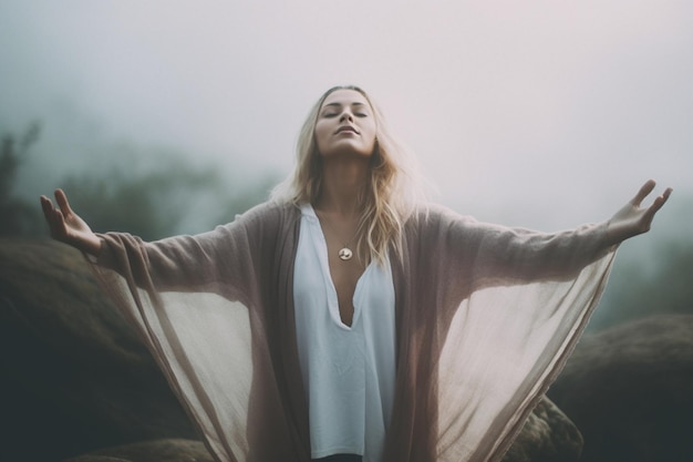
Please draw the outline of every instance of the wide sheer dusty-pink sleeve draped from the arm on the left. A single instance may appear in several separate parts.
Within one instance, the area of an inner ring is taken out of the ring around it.
[[[252,355],[263,355],[251,322],[262,316],[263,268],[277,260],[277,215],[263,205],[213,232],[154,243],[108,233],[90,260],[221,461],[249,452]]]

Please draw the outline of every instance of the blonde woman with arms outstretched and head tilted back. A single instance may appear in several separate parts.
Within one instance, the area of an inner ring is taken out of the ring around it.
[[[270,201],[198,236],[94,234],[90,256],[219,461],[499,460],[649,230],[648,182],[609,222],[540,234],[413,194],[360,89],[329,90]]]

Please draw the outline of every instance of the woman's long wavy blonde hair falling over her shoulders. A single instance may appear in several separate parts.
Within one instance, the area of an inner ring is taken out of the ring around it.
[[[356,253],[368,255],[370,259],[382,264],[391,245],[397,255],[402,255],[404,223],[413,215],[423,194],[407,150],[390,135],[381,111],[360,88],[333,86],[313,105],[299,133],[296,167],[272,191],[271,199],[301,205],[314,204],[320,196],[323,181],[322,157],[314,136],[316,123],[324,100],[337,90],[361,93],[371,105],[375,117],[376,141],[371,156],[371,176],[360,201],[363,209],[356,233]]]

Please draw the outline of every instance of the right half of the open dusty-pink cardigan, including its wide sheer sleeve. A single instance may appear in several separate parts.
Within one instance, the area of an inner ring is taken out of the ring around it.
[[[402,378],[426,377],[403,400],[428,403],[426,459],[503,458],[577,343],[614,253],[606,224],[544,234],[449,212],[421,218],[400,365]]]

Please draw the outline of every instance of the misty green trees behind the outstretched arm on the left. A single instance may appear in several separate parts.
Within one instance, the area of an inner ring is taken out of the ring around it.
[[[46,226],[38,197],[28,202],[15,194],[22,164],[39,138],[39,125],[21,135],[6,134],[0,155],[0,236],[40,236]],[[161,156],[155,168],[128,163],[99,171],[76,172],[58,184],[72,208],[95,232],[126,230],[146,240],[195,233],[228,223],[268,197],[277,179],[265,175],[237,186],[215,166],[199,167],[180,155]],[[51,191],[43,192],[51,194]]]

